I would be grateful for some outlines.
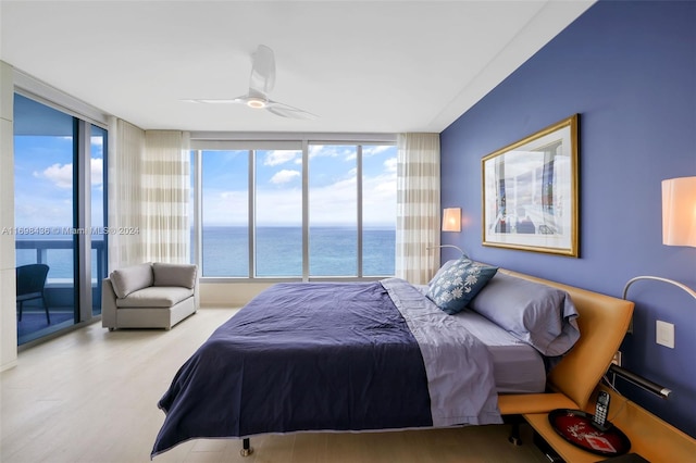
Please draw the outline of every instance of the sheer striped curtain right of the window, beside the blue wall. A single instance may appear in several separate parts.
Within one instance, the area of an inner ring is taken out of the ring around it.
[[[426,284],[439,266],[439,134],[397,138],[396,276]]]

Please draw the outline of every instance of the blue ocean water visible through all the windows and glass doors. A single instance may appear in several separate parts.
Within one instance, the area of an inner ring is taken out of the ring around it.
[[[70,238],[61,236],[17,236],[17,240],[40,239],[42,261],[51,267],[49,278],[73,277]],[[50,241],[62,241],[52,245]],[[249,275],[247,227],[204,227],[202,234],[202,276],[246,277]],[[356,276],[358,234],[355,228],[312,227],[309,235],[310,276]],[[363,276],[390,276],[395,272],[396,230],[363,228]],[[92,250],[92,278],[96,278],[97,251]],[[302,275],[302,229],[300,227],[260,227],[257,229],[256,275],[294,277]],[[37,262],[36,249],[17,249],[17,265]]]

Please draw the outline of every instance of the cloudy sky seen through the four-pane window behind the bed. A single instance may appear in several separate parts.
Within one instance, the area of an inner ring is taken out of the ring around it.
[[[302,153],[257,151],[258,225],[301,225]],[[202,153],[203,225],[244,225],[248,217],[248,151]],[[312,145],[310,225],[357,223],[357,148]],[[363,147],[363,224],[395,226],[396,147]]]

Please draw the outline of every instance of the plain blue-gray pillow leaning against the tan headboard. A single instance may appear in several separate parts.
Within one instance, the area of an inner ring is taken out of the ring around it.
[[[547,356],[564,354],[580,338],[570,295],[524,278],[497,274],[469,309]]]

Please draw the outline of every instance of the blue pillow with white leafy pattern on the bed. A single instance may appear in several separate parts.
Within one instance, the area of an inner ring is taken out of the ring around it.
[[[427,298],[443,312],[453,315],[467,306],[497,271],[498,267],[462,258],[433,278],[428,285]]]

